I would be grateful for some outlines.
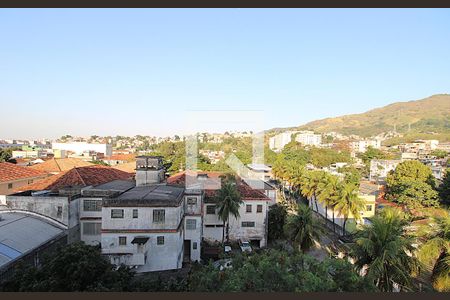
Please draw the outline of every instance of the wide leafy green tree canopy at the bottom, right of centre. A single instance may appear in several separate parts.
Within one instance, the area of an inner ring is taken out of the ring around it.
[[[189,276],[192,292],[315,292],[376,291],[344,260],[319,262],[300,252],[266,250],[235,256],[232,268],[197,265]]]

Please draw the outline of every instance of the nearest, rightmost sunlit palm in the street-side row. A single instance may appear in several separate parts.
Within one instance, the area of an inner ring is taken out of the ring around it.
[[[345,235],[345,225],[348,217],[353,216],[355,221],[361,220],[361,211],[365,209],[365,201],[358,196],[357,187],[353,184],[342,184],[339,188],[339,198],[335,204],[335,209],[339,215],[344,217],[342,235]]]

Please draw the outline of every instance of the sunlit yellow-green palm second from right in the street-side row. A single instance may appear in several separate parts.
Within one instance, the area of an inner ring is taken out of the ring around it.
[[[339,177],[327,174],[319,183],[318,198],[325,205],[325,219],[328,220],[328,207],[331,207],[333,213],[333,232],[336,232],[334,220],[334,207],[339,201],[341,182]]]

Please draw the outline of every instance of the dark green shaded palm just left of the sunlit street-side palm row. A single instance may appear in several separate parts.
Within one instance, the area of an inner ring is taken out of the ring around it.
[[[289,217],[285,225],[286,236],[298,247],[300,251],[307,251],[319,239],[322,228],[314,219],[311,208],[299,204],[297,214]]]

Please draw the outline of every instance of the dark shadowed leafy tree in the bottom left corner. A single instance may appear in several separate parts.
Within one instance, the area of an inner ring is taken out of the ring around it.
[[[44,259],[41,268],[22,266],[3,284],[4,291],[81,292],[126,291],[132,273],[115,270],[98,247],[82,242],[62,247]]]

